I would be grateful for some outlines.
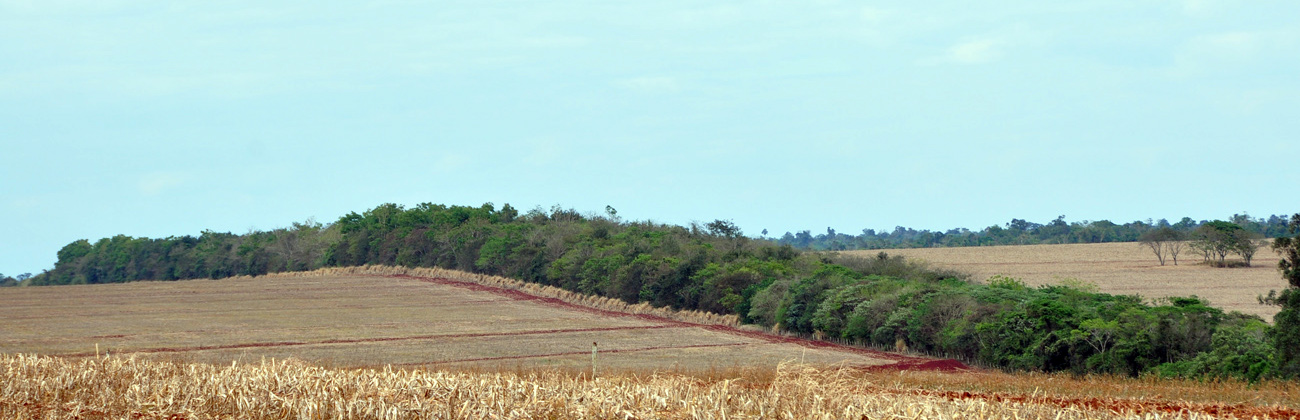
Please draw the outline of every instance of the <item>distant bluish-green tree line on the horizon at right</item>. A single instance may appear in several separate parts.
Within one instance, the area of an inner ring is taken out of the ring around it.
[[[861,234],[845,234],[827,228],[826,233],[812,234],[811,230],[786,231],[777,243],[803,250],[844,251],[844,250],[883,250],[883,248],[927,248],[927,247],[970,247],[997,244],[1053,244],[1053,243],[1102,243],[1138,242],[1143,234],[1157,229],[1167,229],[1190,235],[1210,221],[1196,221],[1183,217],[1176,222],[1169,220],[1132,221],[1115,224],[1109,220],[1066,222],[1060,216],[1046,224],[1036,224],[1023,218],[1011,218],[1005,225],[993,225],[982,230],[965,228],[939,230],[915,230],[896,226],[890,230],[863,229]],[[1277,238],[1286,234],[1287,217],[1269,216],[1256,218],[1251,215],[1232,215],[1227,222],[1242,226],[1245,231],[1261,238]],[[766,231],[763,233],[766,235]]]

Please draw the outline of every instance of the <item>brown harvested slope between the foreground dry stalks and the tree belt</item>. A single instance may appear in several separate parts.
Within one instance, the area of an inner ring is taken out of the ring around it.
[[[139,354],[214,364],[292,358],[333,367],[589,367],[597,342],[598,364],[608,368],[705,369],[792,360],[953,368],[740,329],[734,319],[715,315],[602,302],[536,285],[494,286],[511,283],[464,273],[460,280],[404,273],[363,268],[3,289],[0,319],[9,322],[0,324],[0,354]]]

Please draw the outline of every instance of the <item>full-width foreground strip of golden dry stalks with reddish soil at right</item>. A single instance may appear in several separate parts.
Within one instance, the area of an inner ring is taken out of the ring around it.
[[[1295,410],[1300,389],[1294,384],[863,373],[790,364],[763,372],[616,372],[592,378],[558,369],[338,369],[276,360],[212,365],[135,356],[0,356],[0,417],[17,420],[1300,417]],[[963,382],[978,384],[976,390],[963,390]],[[1187,389],[1218,397],[1187,400],[1179,394]],[[1132,397],[1079,395],[1089,390]],[[1243,400],[1225,402],[1235,398]]]

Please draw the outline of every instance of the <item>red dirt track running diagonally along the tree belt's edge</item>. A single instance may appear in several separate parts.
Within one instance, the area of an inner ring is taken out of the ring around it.
[[[686,322],[686,321],[671,320],[671,319],[667,319],[667,317],[662,317],[662,316],[655,316],[655,315],[625,313],[625,312],[618,312],[618,311],[598,309],[598,308],[592,308],[592,307],[584,307],[584,306],[575,304],[575,303],[568,303],[568,302],[564,302],[564,300],[560,300],[560,299],[556,299],[556,298],[543,298],[543,296],[530,295],[530,294],[526,294],[526,293],[523,293],[523,291],[519,291],[519,290],[485,286],[485,285],[480,285],[480,283],[474,283],[474,282],[468,282],[468,281],[459,281],[459,280],[451,280],[451,278],[436,278],[436,277],[417,277],[417,276],[407,276],[407,274],[393,274],[393,276],[384,276],[384,277],[410,278],[410,280],[417,280],[417,281],[436,283],[436,285],[446,285],[446,286],[455,286],[455,287],[469,289],[469,290],[476,290],[476,291],[486,291],[486,293],[491,293],[491,294],[500,295],[500,296],[507,296],[507,298],[516,299],[516,300],[534,300],[534,302],[538,302],[538,303],[545,303],[545,304],[550,304],[550,306],[555,306],[555,307],[560,307],[560,308],[571,309],[571,311],[581,311],[581,312],[588,312],[588,313],[599,313],[599,315],[603,315],[603,316],[612,316],[612,317],[634,317],[634,319],[640,319],[640,320],[645,320],[645,321],[663,322],[663,324],[680,325],[680,326],[702,328],[702,329],[708,329],[708,330],[714,330],[714,332],[720,332],[720,333],[727,333],[727,334],[733,334],[733,335],[741,335],[741,337],[748,337],[748,338],[754,338],[754,339],[760,339],[760,341],[766,341],[766,342],[770,342],[770,343],[800,345],[800,346],[810,347],[810,348],[826,348],[826,350],[844,351],[844,352],[852,352],[852,354],[859,354],[859,355],[870,356],[870,358],[874,358],[874,359],[894,360],[896,361],[896,363],[892,363],[892,364],[872,367],[872,369],[880,369],[880,371],[889,371],[889,369],[901,369],[901,371],[902,369],[905,369],[905,371],[971,371],[971,368],[967,367],[966,364],[963,364],[963,363],[961,363],[958,360],[952,360],[952,359],[916,358],[916,356],[907,356],[907,355],[884,352],[884,351],[879,351],[879,350],[871,350],[871,348],[863,348],[863,347],[854,347],[854,346],[838,345],[838,343],[832,343],[832,342],[826,342],[826,341],[815,341],[815,339],[806,339],[806,338],[798,338],[798,337],[786,337],[786,335],[770,334],[770,333],[763,333],[763,332],[744,330],[744,329],[738,329],[738,328],[734,328],[734,326],[727,326],[727,325],[696,324],[696,322]]]

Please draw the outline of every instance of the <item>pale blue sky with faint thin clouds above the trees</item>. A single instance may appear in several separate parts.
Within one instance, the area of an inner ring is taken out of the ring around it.
[[[382,203],[1290,215],[1297,75],[1291,0],[0,0],[0,273]]]

